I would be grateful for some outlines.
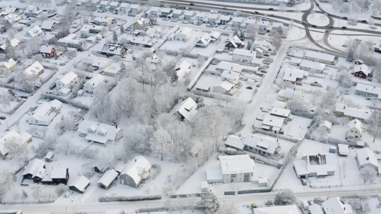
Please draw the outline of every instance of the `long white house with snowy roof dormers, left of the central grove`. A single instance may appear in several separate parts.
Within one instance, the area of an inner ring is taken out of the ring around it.
[[[90,120],[83,120],[78,125],[79,136],[97,144],[116,143],[123,137],[122,129],[118,126],[97,123]]]

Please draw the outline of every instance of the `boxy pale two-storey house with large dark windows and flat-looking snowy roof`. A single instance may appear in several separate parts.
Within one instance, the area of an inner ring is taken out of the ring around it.
[[[219,157],[223,183],[250,182],[255,163],[249,155],[226,155]],[[208,176],[207,176],[208,180]]]

